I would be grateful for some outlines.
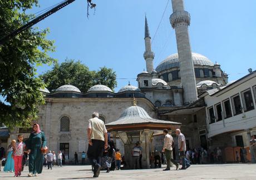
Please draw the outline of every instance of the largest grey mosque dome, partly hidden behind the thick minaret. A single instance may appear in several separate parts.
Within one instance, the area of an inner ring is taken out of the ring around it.
[[[202,54],[192,53],[194,65],[199,66],[214,66],[214,63]],[[161,72],[170,68],[179,67],[178,53],[171,54],[164,61],[162,61],[157,67],[156,71]]]

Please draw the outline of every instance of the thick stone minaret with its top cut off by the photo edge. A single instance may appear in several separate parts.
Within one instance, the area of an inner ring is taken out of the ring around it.
[[[184,103],[188,104],[198,99],[188,31],[190,14],[184,11],[183,0],[172,0],[171,2],[173,4],[173,14],[170,16],[170,23],[176,34]]]

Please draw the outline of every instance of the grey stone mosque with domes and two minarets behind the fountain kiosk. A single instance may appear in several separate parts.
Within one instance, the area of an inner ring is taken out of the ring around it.
[[[40,107],[37,122],[45,131],[47,146],[53,151],[65,153],[66,161],[73,161],[73,154],[81,156],[87,149],[87,126],[92,112],[99,112],[106,124],[119,119],[125,109],[137,99],[137,106],[151,118],[181,123],[188,148],[208,147],[206,138],[206,112],[203,98],[199,94],[228,83],[220,64],[213,63],[199,53],[191,52],[188,27],[190,14],[184,10],[183,0],[172,0],[171,27],[176,34],[178,53],[171,54],[160,64],[154,65],[154,52],[145,18],[146,71],[137,74],[137,86],[130,83],[118,92],[97,84],[81,92],[71,84],[63,84],[55,92],[42,89],[46,104]],[[155,67],[155,68],[154,68]],[[29,136],[26,129],[16,128],[9,139],[17,133]],[[174,135],[175,136],[175,135]],[[163,137],[155,136],[150,151],[160,151]],[[121,141],[116,146],[122,149]]]

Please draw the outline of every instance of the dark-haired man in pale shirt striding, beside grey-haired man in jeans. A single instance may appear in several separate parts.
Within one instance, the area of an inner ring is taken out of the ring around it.
[[[171,154],[173,153],[173,147],[171,147],[171,145],[173,144],[173,137],[168,134],[168,130],[164,129],[164,147],[162,152],[165,153],[165,157],[166,157],[166,163],[167,163],[167,167],[166,169],[164,169],[163,171],[168,171],[170,170],[170,163],[174,163],[176,166],[176,170],[179,168],[179,163],[175,162],[173,158],[171,158]]]

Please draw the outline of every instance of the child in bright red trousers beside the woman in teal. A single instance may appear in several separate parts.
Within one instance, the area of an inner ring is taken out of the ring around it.
[[[23,154],[24,150],[26,148],[25,143],[23,143],[23,135],[19,134],[18,135],[18,142],[16,142],[14,148],[14,170],[15,170],[15,177],[21,176],[21,171],[22,171],[22,159],[23,159]]]

